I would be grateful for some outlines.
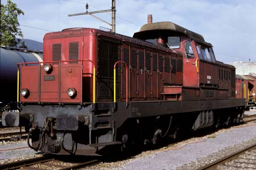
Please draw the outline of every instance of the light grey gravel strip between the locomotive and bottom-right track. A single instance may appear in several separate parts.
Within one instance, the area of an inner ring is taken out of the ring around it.
[[[178,150],[167,149],[142,159],[134,159],[117,169],[176,169],[191,162],[200,163],[199,159],[212,155],[214,152],[250,140],[256,142],[256,125],[224,131],[218,133],[215,138],[206,138],[204,142],[192,143]],[[221,155],[217,155],[220,158]],[[211,156],[210,159],[212,159],[210,160],[212,162],[215,158]],[[191,167],[191,165],[188,165],[188,167]],[[188,169],[188,167],[180,169]]]

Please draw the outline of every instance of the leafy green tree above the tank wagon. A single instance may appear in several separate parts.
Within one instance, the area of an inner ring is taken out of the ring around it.
[[[11,0],[7,0],[6,5],[1,3],[1,34],[0,44],[6,46],[16,46],[21,40],[15,41],[15,36],[23,37],[19,28],[18,15],[24,15],[17,5]]]

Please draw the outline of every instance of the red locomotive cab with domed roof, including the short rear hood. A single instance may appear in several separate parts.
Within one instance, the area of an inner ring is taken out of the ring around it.
[[[236,97],[235,68],[216,61],[212,44],[198,33],[172,22],[149,22],[134,33],[133,37],[183,53],[180,99],[214,100]]]

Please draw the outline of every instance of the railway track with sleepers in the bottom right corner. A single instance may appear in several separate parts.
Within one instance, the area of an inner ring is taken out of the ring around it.
[[[255,169],[256,167],[256,143],[240,151],[224,156],[210,164],[196,170],[222,170],[222,169]]]

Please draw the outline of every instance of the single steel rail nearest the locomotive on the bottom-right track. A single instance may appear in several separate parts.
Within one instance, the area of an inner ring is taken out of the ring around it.
[[[243,153],[245,153],[246,151],[250,151],[253,150],[254,148],[256,148],[256,143],[254,143],[253,145],[247,146],[245,148],[243,148],[240,151],[234,152],[233,154],[224,156],[212,163],[209,163],[207,165],[204,165],[203,167],[200,167],[196,170],[210,170],[210,169],[216,169],[218,165],[223,165],[226,162],[229,162],[230,160],[236,159],[238,158],[238,156],[242,155]]]

